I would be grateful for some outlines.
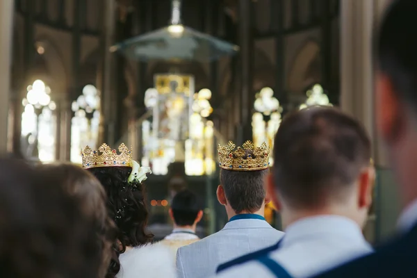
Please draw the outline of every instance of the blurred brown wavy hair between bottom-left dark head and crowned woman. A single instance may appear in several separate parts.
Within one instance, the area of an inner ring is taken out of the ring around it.
[[[102,258],[100,268],[97,270],[99,277],[106,277],[108,266],[111,263],[113,244],[116,239],[116,228],[113,220],[108,216],[106,209],[106,192],[90,172],[72,164],[41,165],[38,170],[44,176],[49,176],[57,186],[62,186],[65,191],[76,199],[79,208],[88,215],[94,226],[97,238],[93,243],[97,244],[97,250]]]

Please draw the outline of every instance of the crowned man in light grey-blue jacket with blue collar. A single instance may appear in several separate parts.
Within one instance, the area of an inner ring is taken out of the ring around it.
[[[268,174],[269,148],[254,148],[247,141],[235,149],[233,142],[218,147],[220,186],[217,197],[226,208],[229,222],[218,233],[179,248],[178,278],[215,275],[221,263],[277,243],[283,233],[263,218],[268,203],[264,178]]]

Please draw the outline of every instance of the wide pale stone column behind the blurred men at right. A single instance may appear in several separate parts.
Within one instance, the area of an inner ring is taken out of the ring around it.
[[[388,163],[374,129],[373,26],[389,0],[341,0],[341,108],[357,117],[373,140],[375,163]]]

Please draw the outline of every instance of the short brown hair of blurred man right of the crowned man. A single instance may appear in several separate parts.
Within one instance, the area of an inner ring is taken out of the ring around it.
[[[311,107],[281,122],[272,174],[279,194],[294,208],[316,208],[346,190],[370,163],[370,139],[362,124],[337,108]]]

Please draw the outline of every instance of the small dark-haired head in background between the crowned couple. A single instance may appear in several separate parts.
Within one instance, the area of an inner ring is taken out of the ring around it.
[[[181,190],[172,199],[170,216],[177,227],[190,227],[202,220],[203,211],[197,195],[188,189]]]

